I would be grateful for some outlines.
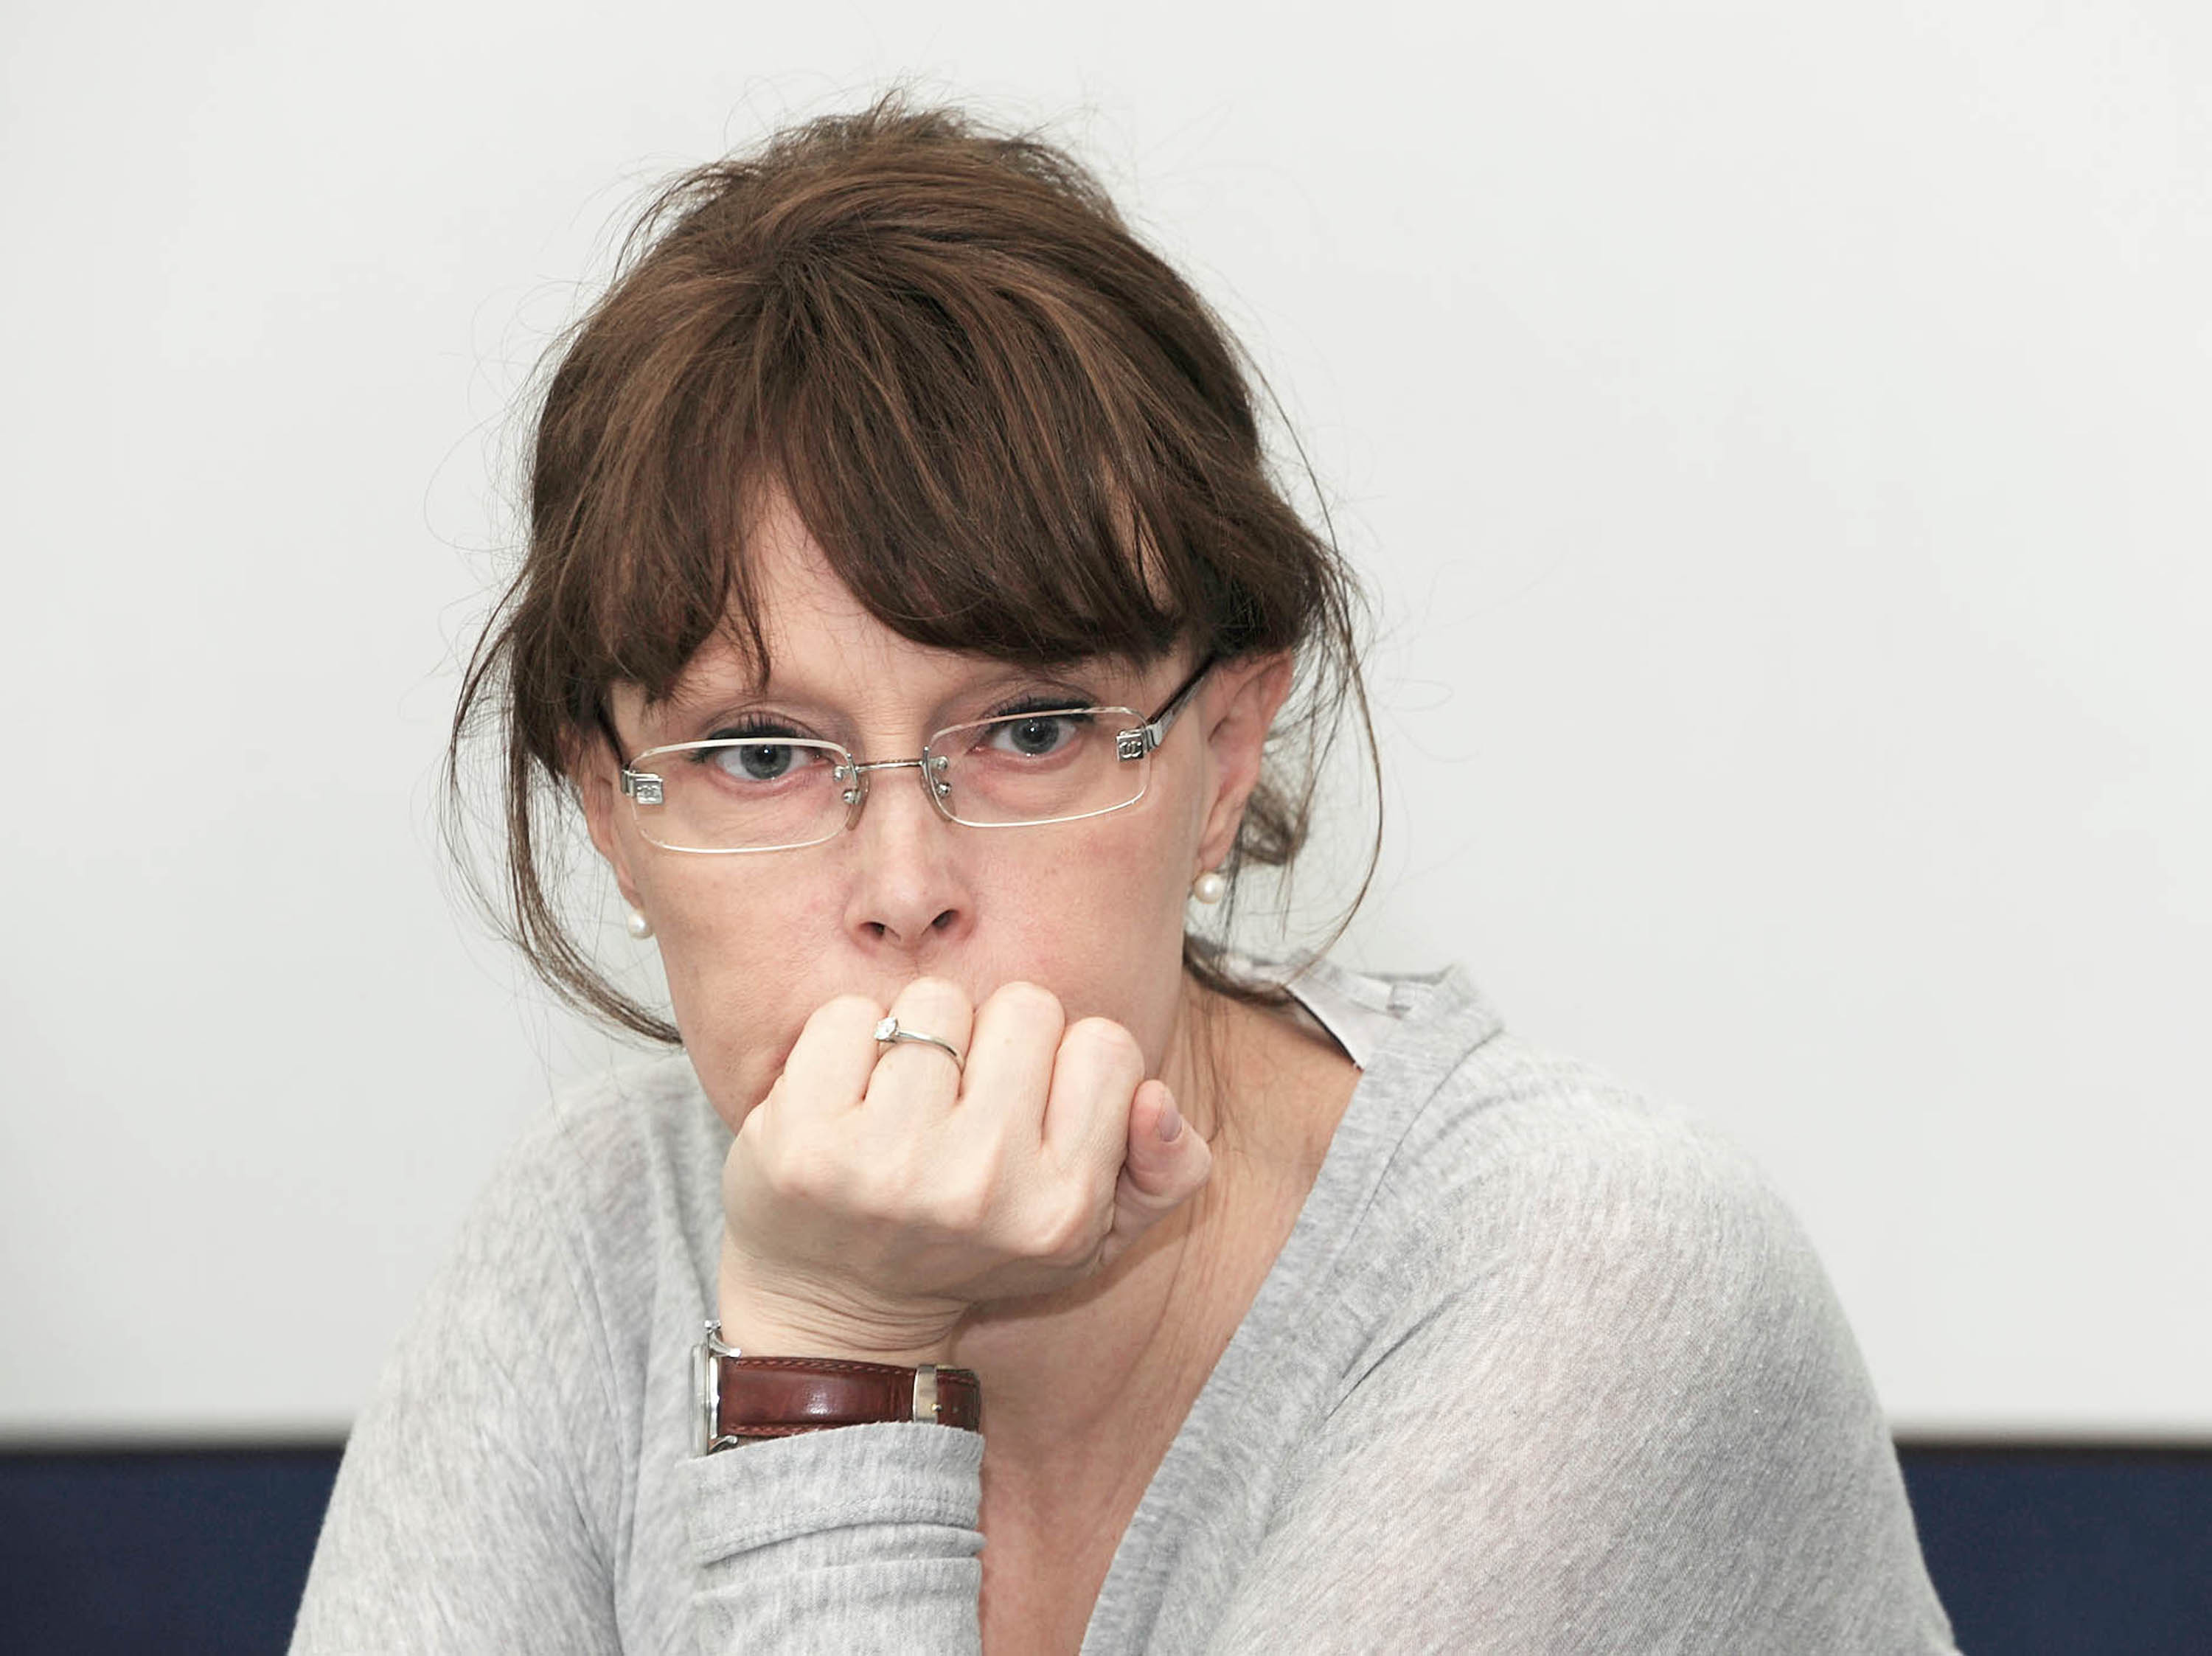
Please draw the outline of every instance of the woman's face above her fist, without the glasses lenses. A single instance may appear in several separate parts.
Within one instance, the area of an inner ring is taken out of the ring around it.
[[[659,708],[617,685],[626,756],[774,714],[865,761],[911,758],[931,732],[1026,694],[1150,714],[1194,665],[1179,650],[1150,668],[1099,659],[1040,672],[918,646],[830,573],[783,500],[750,551],[770,681],[754,685],[717,637]],[[845,993],[889,1006],[918,975],[951,979],[975,1004],[1004,982],[1042,984],[1068,1021],[1124,1024],[1159,1075],[1179,1039],[1190,882],[1234,842],[1287,683],[1283,657],[1217,665],[1152,754],[1144,798],[1075,822],[962,827],[938,816],[920,772],[889,769],[872,776],[858,827],[823,845],[668,851],[639,834],[604,747],[580,778],[584,809],[622,895],[653,922],[684,1046],[732,1128],[816,1006]]]

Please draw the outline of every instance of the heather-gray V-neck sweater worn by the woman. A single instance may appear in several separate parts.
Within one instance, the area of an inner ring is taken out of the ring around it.
[[[1743,1156],[1455,968],[1294,988],[1363,1077],[1084,1652],[1953,1649]],[[294,1652],[978,1649],[980,1437],[692,1453],[728,1145],[677,1055],[507,1159],[347,1442]]]

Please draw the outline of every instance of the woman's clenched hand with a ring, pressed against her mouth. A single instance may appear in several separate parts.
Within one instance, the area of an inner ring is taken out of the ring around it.
[[[1035,984],[980,1008],[938,977],[891,1015],[816,1008],[723,1163],[723,1338],[763,1355],[936,1362],[971,1304],[1048,1293],[1124,1254],[1212,1170],[1137,1039],[1066,1024]]]

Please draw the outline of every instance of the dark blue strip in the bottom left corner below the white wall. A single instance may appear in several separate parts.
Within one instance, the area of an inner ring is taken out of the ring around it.
[[[0,1649],[283,1652],[336,1448],[0,1455]]]

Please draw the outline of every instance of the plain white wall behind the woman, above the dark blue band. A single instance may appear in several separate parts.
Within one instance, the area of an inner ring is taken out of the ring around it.
[[[1725,1121],[1907,1430],[2212,1433],[2212,13],[11,7],[0,1437],[336,1430],[599,1048],[456,915],[529,360],[650,179],[1055,117],[1385,623],[1371,964]]]

